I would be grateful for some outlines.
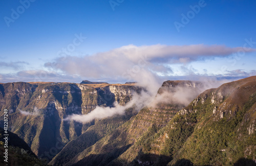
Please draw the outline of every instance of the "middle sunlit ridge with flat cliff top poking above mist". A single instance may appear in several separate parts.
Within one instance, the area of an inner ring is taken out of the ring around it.
[[[177,82],[164,82],[159,91],[162,91],[162,93],[166,91],[178,93],[179,88],[196,91],[201,87],[201,84],[195,84],[195,86],[191,87],[182,81]],[[177,84],[170,86],[173,83]],[[192,81],[189,83],[193,84]],[[175,101],[164,101],[157,103],[155,107],[145,107],[140,110],[138,115],[104,136],[93,146],[74,156],[72,160],[64,165],[118,165],[131,163],[136,159],[142,147],[150,147],[147,144],[143,144],[144,142],[149,143],[148,137],[164,127],[182,107],[184,107],[183,104]]]

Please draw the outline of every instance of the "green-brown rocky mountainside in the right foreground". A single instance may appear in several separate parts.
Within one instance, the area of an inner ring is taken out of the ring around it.
[[[255,102],[256,76],[206,90],[151,136],[148,145],[156,150],[142,151],[168,156],[165,164],[171,161],[169,165],[246,164],[250,159],[253,162]],[[149,158],[147,161],[159,162]]]

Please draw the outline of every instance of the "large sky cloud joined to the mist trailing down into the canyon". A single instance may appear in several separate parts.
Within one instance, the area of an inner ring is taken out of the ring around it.
[[[115,107],[97,106],[92,112],[86,115],[70,115],[65,119],[87,123],[93,119],[103,119],[116,114],[124,114],[125,110],[130,107],[136,107],[137,110],[140,110],[144,106],[163,101],[164,98],[172,99],[176,103],[185,105],[195,95],[199,94],[199,91],[192,93],[190,90],[178,89],[177,93],[164,93],[158,95],[156,98],[157,90],[163,82],[163,79],[159,77],[159,73],[166,75],[173,73],[172,68],[166,64],[188,63],[202,58],[216,56],[225,57],[240,49],[242,48],[230,48],[220,45],[206,46],[203,44],[186,46],[151,45],[140,47],[127,45],[111,51],[93,54],[92,56],[60,57],[55,59],[54,62],[45,64],[45,67],[49,68],[48,72],[29,70],[18,72],[17,75],[22,77],[46,75],[47,77],[53,78],[60,76],[59,73],[54,71],[57,70],[66,75],[78,75],[86,78],[136,80],[141,86],[146,88],[146,92],[142,92],[139,95],[135,94],[132,100],[125,106],[121,106],[118,103],[115,103]],[[254,49],[246,50],[249,52],[255,51]],[[193,67],[182,67],[181,70],[187,75],[197,75]],[[162,78],[164,78],[164,75]],[[211,88],[211,86],[207,88]],[[23,114],[30,115],[33,113]]]

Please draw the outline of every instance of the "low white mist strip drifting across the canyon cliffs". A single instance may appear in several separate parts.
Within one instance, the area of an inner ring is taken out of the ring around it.
[[[159,87],[158,87],[159,88]],[[125,110],[128,108],[133,108],[139,112],[143,107],[154,108],[158,103],[173,103],[179,105],[187,105],[191,102],[197,95],[205,90],[205,86],[202,82],[201,85],[198,85],[197,88],[184,88],[182,86],[177,86],[172,88],[163,88],[163,93],[153,94],[149,91],[142,91],[140,94],[134,94],[131,101],[126,105],[119,105],[117,102],[114,107],[102,107],[97,106],[92,112],[85,115],[73,114],[63,119],[64,121],[77,121],[81,123],[88,123],[94,119],[103,119],[112,117],[114,115],[123,115]],[[150,89],[148,89],[150,90]]]

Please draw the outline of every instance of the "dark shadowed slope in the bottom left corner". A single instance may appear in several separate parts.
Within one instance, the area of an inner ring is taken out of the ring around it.
[[[4,154],[6,147],[4,140],[4,129],[0,127],[0,151]],[[8,162],[1,159],[1,165],[46,165],[40,161],[32,152],[28,144],[25,143],[17,134],[8,131]]]

